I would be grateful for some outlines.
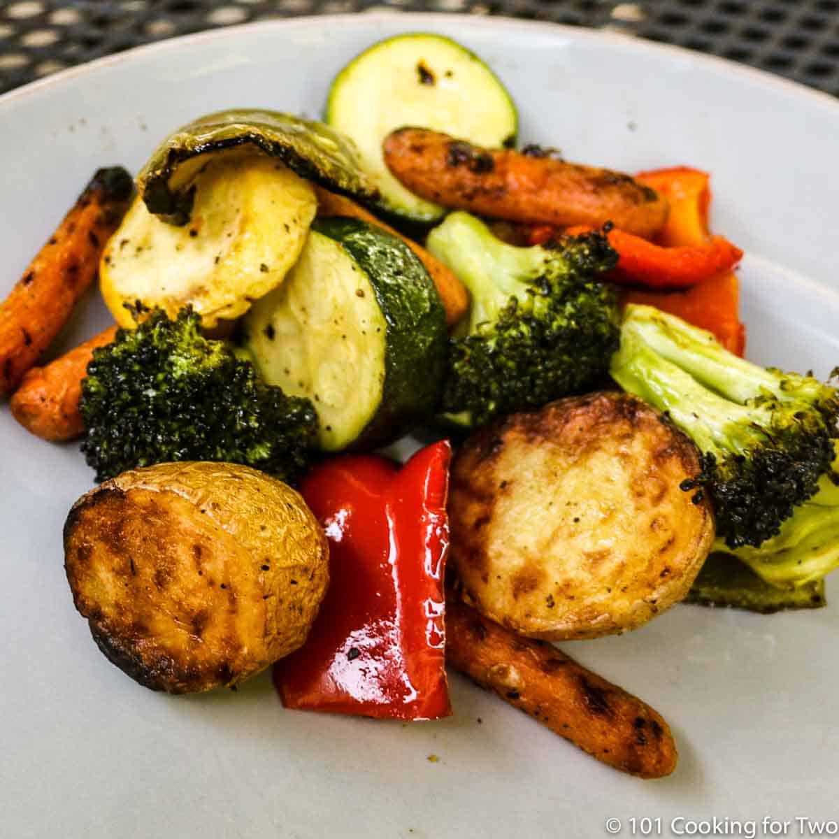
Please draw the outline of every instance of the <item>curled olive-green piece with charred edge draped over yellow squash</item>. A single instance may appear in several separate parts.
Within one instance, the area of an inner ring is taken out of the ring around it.
[[[351,139],[322,122],[241,108],[196,119],[160,143],[138,175],[149,212],[170,224],[185,224],[192,214],[193,181],[208,155],[235,150],[277,158],[301,178],[333,192],[362,201],[378,198]]]

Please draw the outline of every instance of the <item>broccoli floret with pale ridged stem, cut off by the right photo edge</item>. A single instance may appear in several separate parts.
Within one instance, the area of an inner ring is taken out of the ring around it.
[[[612,378],[670,415],[701,451],[717,534],[757,548],[832,470],[839,393],[811,376],[758,367],[710,332],[650,306],[627,306]]]

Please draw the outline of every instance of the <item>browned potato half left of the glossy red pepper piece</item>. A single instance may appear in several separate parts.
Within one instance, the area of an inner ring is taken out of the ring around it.
[[[96,644],[169,693],[236,685],[300,647],[329,581],[303,499],[248,466],[124,472],[73,505],[64,539]]]

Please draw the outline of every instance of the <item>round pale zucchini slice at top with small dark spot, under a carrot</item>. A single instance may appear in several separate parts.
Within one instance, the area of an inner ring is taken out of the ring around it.
[[[496,148],[515,143],[518,116],[498,76],[469,50],[435,34],[374,44],[336,76],[326,122],[355,140],[383,208],[412,221],[439,221],[443,207],[417,197],[390,174],[382,141],[395,128],[443,131]]]

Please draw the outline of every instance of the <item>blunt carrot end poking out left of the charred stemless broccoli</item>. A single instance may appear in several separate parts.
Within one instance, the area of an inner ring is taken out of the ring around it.
[[[72,440],[85,430],[79,414],[81,380],[96,347],[110,344],[117,327],[100,332],[45,367],[33,367],[13,393],[12,415],[28,431],[44,440]]]

